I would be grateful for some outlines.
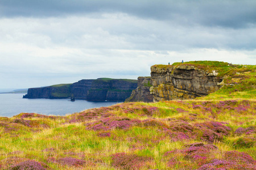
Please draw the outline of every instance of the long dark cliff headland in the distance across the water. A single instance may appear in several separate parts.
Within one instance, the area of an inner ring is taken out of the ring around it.
[[[88,101],[125,101],[137,88],[137,80],[133,79],[84,79],[73,84],[29,88],[23,98],[63,99],[75,97]]]

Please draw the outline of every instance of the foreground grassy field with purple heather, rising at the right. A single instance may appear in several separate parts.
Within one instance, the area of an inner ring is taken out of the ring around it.
[[[255,169],[255,69],[247,72],[195,100],[0,117],[0,167]]]

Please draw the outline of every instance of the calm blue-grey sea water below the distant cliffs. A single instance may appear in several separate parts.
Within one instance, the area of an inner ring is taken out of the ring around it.
[[[0,94],[0,117],[13,117],[19,113],[65,116],[118,103],[117,101],[70,101],[70,99],[23,99],[23,95],[25,94]]]

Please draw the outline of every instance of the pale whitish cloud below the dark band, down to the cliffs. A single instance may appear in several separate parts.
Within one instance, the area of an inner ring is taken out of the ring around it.
[[[137,79],[150,75],[152,65],[181,59],[255,64],[255,29],[188,27],[176,20],[125,13],[2,18],[0,73],[5,83],[0,88],[46,86],[82,78]]]

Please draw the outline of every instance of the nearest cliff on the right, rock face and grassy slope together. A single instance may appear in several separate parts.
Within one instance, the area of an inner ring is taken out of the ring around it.
[[[250,97],[255,94],[255,65],[190,61],[151,66],[154,101]],[[245,88],[246,87],[246,88]]]

